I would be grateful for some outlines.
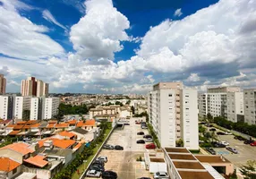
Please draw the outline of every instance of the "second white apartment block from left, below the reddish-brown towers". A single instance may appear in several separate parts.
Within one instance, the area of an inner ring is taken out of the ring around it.
[[[16,97],[14,99],[14,113],[15,119],[22,119],[24,110],[30,110],[31,97]]]

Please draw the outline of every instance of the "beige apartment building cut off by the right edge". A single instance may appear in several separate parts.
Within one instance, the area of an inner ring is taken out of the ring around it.
[[[244,122],[256,124],[256,89],[243,90]]]

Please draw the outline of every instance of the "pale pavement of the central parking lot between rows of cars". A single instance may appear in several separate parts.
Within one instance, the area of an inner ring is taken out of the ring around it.
[[[110,136],[107,144],[120,145],[124,150],[102,149],[98,156],[106,156],[108,161],[105,165],[106,170],[113,170],[117,173],[118,179],[132,179],[141,176],[150,176],[145,169],[144,162],[137,162],[136,158],[143,158],[145,144],[137,144],[136,141],[143,139],[143,135],[137,132],[149,134],[147,129],[141,129],[140,124],[135,124],[136,118],[130,119],[130,125],[124,125],[124,129],[117,128]],[[147,144],[147,143],[146,143]]]

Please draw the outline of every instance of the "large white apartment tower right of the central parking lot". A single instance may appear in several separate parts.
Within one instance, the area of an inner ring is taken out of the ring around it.
[[[182,139],[184,147],[199,149],[197,90],[183,90],[182,82],[159,82],[149,92],[149,123],[162,147],[175,147]]]

